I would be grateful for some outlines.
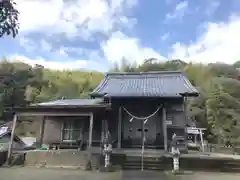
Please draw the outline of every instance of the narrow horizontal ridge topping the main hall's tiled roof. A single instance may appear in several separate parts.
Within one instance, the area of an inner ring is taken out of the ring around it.
[[[182,71],[148,71],[148,72],[109,72],[109,75],[148,75],[148,74],[183,74]]]

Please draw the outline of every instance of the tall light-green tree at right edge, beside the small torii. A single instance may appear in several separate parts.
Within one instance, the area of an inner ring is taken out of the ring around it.
[[[236,134],[236,126],[240,118],[240,103],[229,95],[222,87],[220,81],[215,79],[211,84],[206,101],[207,119],[212,133],[217,137],[218,146],[230,141],[237,144],[240,134]]]

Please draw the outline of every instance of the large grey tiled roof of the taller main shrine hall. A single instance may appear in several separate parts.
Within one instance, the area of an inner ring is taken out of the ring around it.
[[[92,97],[181,97],[197,96],[197,89],[178,71],[108,73]]]

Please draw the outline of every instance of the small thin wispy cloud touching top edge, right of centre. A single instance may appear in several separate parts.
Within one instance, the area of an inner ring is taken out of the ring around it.
[[[187,1],[182,1],[179,4],[176,5],[175,9],[173,12],[168,13],[166,15],[165,21],[171,20],[171,19],[182,19],[183,16],[185,15],[186,11],[188,8],[188,2]]]

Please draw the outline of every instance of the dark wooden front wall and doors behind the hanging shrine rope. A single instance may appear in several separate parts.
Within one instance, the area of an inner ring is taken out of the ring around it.
[[[145,133],[146,135],[146,143],[154,144],[156,143],[157,136],[160,135],[160,142],[163,144],[163,119],[162,119],[162,108],[166,108],[167,112],[167,120],[171,120],[171,130],[172,127],[177,127],[180,134],[184,135],[184,128],[186,125],[186,116],[185,111],[183,109],[183,98],[179,99],[157,99],[157,98],[125,98],[125,99],[111,99],[113,104],[112,110],[109,113],[109,128],[113,139],[118,138],[118,109],[119,107],[125,107],[129,112],[138,117],[146,117],[156,111],[156,109],[160,106],[161,109],[159,112],[151,117],[148,122],[144,125],[145,129],[148,131]],[[134,142],[141,144],[141,132],[138,129],[141,129],[141,121],[134,119],[130,122],[131,116],[129,116],[122,109],[122,141],[128,139],[129,136],[132,137]],[[179,133],[177,133],[179,134]],[[169,130],[169,136],[172,133]],[[170,137],[171,138],[171,137]]]

